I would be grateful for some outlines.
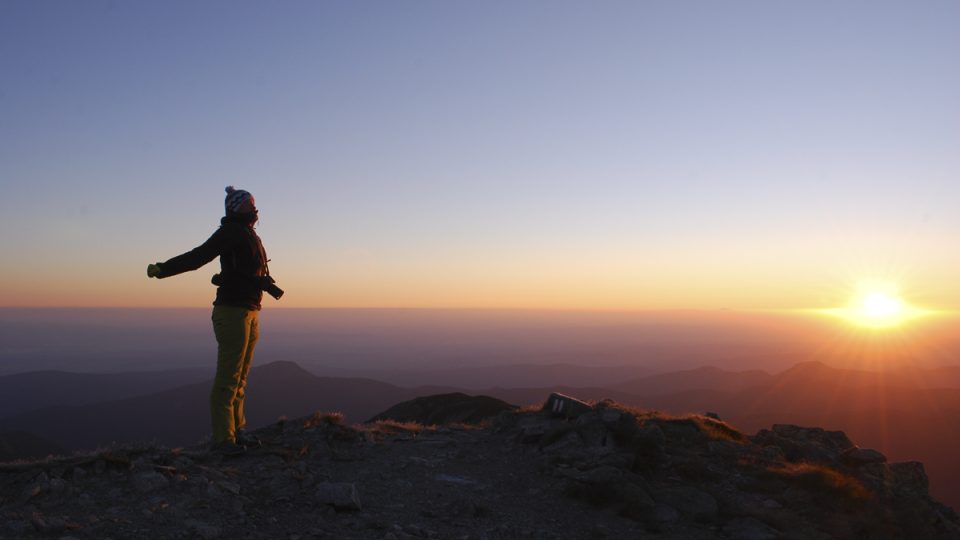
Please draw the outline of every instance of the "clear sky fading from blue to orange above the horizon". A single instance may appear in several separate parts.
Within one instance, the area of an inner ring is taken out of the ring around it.
[[[956,1],[0,2],[0,305],[960,307]],[[272,304],[272,299],[267,299]]]

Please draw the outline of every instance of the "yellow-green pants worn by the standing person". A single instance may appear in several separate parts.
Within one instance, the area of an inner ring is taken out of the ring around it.
[[[213,442],[235,442],[237,430],[247,425],[243,414],[244,389],[257,345],[259,311],[235,306],[213,307],[217,336],[217,375],[210,391]]]

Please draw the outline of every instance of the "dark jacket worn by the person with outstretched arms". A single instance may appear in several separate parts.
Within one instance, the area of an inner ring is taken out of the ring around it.
[[[243,215],[221,219],[220,228],[199,247],[159,263],[157,277],[162,279],[196,270],[217,256],[222,284],[217,287],[213,305],[260,309],[263,291],[258,278],[267,275],[267,254],[253,230],[253,223]]]

